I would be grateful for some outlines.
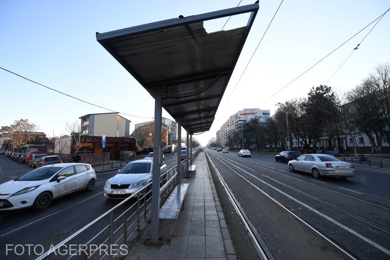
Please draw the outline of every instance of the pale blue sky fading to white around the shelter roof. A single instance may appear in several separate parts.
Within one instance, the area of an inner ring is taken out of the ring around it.
[[[79,117],[116,111],[131,120],[132,132],[136,123],[154,117],[154,99],[98,43],[96,32],[252,3],[254,0],[0,0],[1,68],[110,109],[72,99],[0,69],[0,126],[28,119],[39,132],[53,137],[69,134],[66,123],[79,121]],[[342,94],[360,84],[378,64],[390,62],[390,11],[375,27],[377,20],[361,31],[389,9],[390,1],[280,3],[259,2],[214,123],[210,131],[194,136],[201,145],[215,137],[229,116],[239,110],[269,109],[272,116],[277,102],[307,97],[312,87],[321,84]],[[221,30],[227,20],[205,23],[206,31]],[[223,29],[245,23],[242,17],[234,17]],[[173,119],[164,110],[162,116]]]

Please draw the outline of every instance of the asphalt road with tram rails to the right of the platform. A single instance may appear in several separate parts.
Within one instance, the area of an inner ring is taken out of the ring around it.
[[[274,259],[343,259],[346,256],[243,178],[352,257],[390,258],[389,172],[356,166],[354,178],[316,180],[309,174],[290,172],[286,163],[276,162],[272,155],[241,158],[235,152],[206,152]],[[241,259],[258,258],[242,221],[229,206],[215,174],[213,178],[237,255]]]

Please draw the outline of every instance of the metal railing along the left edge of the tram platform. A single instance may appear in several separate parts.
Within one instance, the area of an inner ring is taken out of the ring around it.
[[[197,154],[193,154],[195,160]],[[184,163],[184,172],[186,161]],[[189,161],[191,164],[191,162]],[[165,174],[161,175],[162,177]],[[167,200],[177,184],[177,165],[166,172],[165,178],[160,183],[160,205]],[[151,194],[152,189],[148,188],[153,183],[149,183],[129,198],[121,201],[115,207],[93,220],[88,225],[78,230],[69,238],[63,240],[56,246],[52,246],[49,251],[43,253],[37,260],[52,259],[110,259],[115,256],[127,255],[130,240],[139,238],[141,226],[148,220],[151,214]],[[146,189],[145,195],[140,195]],[[128,207],[126,204],[130,200],[137,200]],[[64,254],[66,252],[67,254]],[[122,253],[126,253],[123,254]],[[103,254],[103,255],[102,255]]]

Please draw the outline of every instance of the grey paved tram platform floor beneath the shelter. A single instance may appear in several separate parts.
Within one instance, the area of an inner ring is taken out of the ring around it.
[[[216,194],[205,155],[200,152],[194,163],[195,173],[184,200],[184,209],[177,221],[159,228],[162,245],[145,244],[150,239],[151,226],[137,240],[125,260],[236,260],[232,241]]]

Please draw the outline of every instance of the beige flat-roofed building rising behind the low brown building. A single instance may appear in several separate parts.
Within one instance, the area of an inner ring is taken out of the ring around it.
[[[114,113],[88,114],[81,120],[81,134],[88,136],[128,137],[130,135],[130,120]]]

